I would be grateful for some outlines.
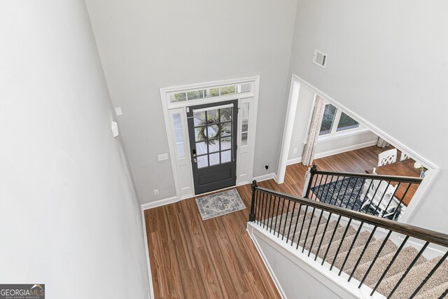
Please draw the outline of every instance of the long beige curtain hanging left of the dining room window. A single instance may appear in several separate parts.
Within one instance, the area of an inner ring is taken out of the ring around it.
[[[317,96],[316,103],[314,104],[313,117],[311,118],[311,125],[309,126],[307,144],[305,144],[303,148],[302,164],[305,166],[311,166],[313,164],[314,152],[316,151],[319,131],[321,131],[324,110],[325,102],[323,102],[323,98]]]

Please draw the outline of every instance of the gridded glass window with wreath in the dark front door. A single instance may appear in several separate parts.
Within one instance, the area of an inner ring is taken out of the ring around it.
[[[233,109],[228,107],[216,110],[193,113],[198,169],[231,160]],[[227,113],[222,113],[222,111]],[[211,123],[208,123],[209,121]],[[214,134],[213,137],[212,134]],[[225,144],[225,148],[223,148],[223,144]]]

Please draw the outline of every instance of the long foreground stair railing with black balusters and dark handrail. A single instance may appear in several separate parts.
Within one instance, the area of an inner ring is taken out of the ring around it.
[[[288,216],[290,212],[292,212],[293,214]],[[297,214],[294,216],[295,212],[297,212]],[[309,212],[311,213],[311,218],[309,218],[308,219],[309,221],[307,221],[309,222],[307,223],[308,227],[304,228],[304,226],[306,226],[305,219],[307,218],[307,214]],[[324,216],[328,218],[328,221],[325,223],[325,228],[323,228],[323,231],[322,232],[320,231],[318,233],[317,230],[319,227],[319,223],[321,223],[321,220]],[[328,223],[330,223],[330,218],[337,218],[335,228],[329,228]],[[252,183],[251,214],[249,215],[249,222],[254,222],[260,225],[260,227],[262,227],[263,229],[265,228],[267,231],[269,231],[269,233],[272,232],[274,236],[276,235],[277,238],[279,239],[281,238],[282,241],[283,239],[285,239],[286,242],[290,244],[290,246],[295,246],[295,249],[301,250],[302,253],[306,254],[305,251],[308,251],[307,256],[310,256],[312,254],[314,256],[315,261],[319,257],[319,251],[321,251],[321,245],[325,234],[327,232],[331,233],[329,244],[332,244],[333,237],[335,237],[335,232],[338,228],[338,225],[339,223],[342,223],[342,218],[346,222],[346,228],[344,230],[342,238],[340,239],[340,241],[338,241],[339,244],[337,245],[337,251],[335,253],[335,256],[332,259],[330,265],[330,271],[335,266],[335,260],[337,260],[339,251],[346,236],[346,232],[349,230],[351,224],[356,224],[358,226],[358,229],[356,230],[356,234],[353,238],[353,241],[351,241],[349,250],[346,251],[344,262],[342,263],[339,269],[338,273],[339,276],[344,271],[346,261],[351,255],[351,251],[353,249],[353,246],[356,244],[356,239],[358,238],[360,232],[362,230],[370,231],[370,235],[367,239],[367,242],[365,242],[365,245],[363,246],[363,251],[360,253],[360,256],[358,257],[356,264],[353,267],[353,270],[351,270],[350,274],[347,273],[349,274],[348,281],[351,281],[353,274],[356,272],[356,269],[360,264],[360,261],[363,259],[365,251],[367,250],[367,247],[369,246],[372,237],[374,237],[375,232],[377,232],[377,229],[381,228],[382,233],[386,235],[386,237],[384,238],[384,242],[382,242],[381,246],[379,247],[379,250],[374,256],[372,262],[370,263],[368,270],[365,272],[362,279],[360,279],[358,288],[363,286],[367,275],[369,274],[370,270],[372,270],[372,267],[377,261],[377,258],[379,258],[381,250],[384,249],[384,246],[391,237],[391,234],[396,233],[400,235],[400,239],[402,239],[400,246],[398,247],[391,261],[388,263],[384,272],[381,274],[381,277],[377,280],[374,288],[372,288],[372,292],[370,293],[370,295],[373,295],[377,291],[378,286],[381,284],[381,281],[384,279],[388,271],[391,269],[391,265],[393,265],[396,258],[399,256],[400,252],[405,247],[405,244],[408,245],[410,244],[409,242],[411,240],[409,238],[419,240],[420,242],[422,242],[423,246],[421,246],[421,249],[418,251],[418,253],[414,257],[410,265],[407,267],[404,274],[402,274],[402,277],[400,277],[400,280],[393,287],[391,293],[387,295],[387,298],[391,298],[393,293],[402,283],[403,279],[405,279],[409,271],[412,269],[412,267],[414,267],[416,262],[422,256],[423,252],[426,249],[428,249],[428,246],[430,244],[440,246],[446,252],[442,256],[440,261],[433,267],[433,269],[430,270],[430,272],[423,279],[421,284],[419,284],[419,286],[416,286],[414,293],[412,293],[412,295],[409,298],[414,298],[414,296],[417,295],[417,293],[419,293],[421,288],[426,284],[428,279],[432,277],[432,275],[440,267],[442,262],[444,260],[447,260],[448,258],[448,235],[445,235],[441,232],[435,232],[433,230],[427,230],[424,228],[419,228],[405,223],[398,223],[396,221],[391,221],[386,218],[380,218],[378,216],[372,216],[370,214],[361,213],[359,211],[345,209],[344,207],[337,207],[333,204],[318,202],[316,200],[309,200],[303,197],[295,197],[293,195],[288,195],[286,193],[261,188],[257,185],[256,181],[253,181]],[[313,221],[315,221],[316,219],[318,219],[318,221],[316,229],[314,230],[313,228],[311,228],[311,223],[313,223]],[[300,230],[297,229],[297,227],[300,228]],[[314,232],[312,232],[312,230],[314,230]],[[321,239],[316,238],[317,235],[321,235]],[[307,242],[310,242],[308,243],[308,246]],[[314,253],[311,252],[313,251],[313,249],[316,249],[316,252]],[[324,249],[325,253],[322,252],[323,258],[321,258],[321,265],[325,263],[325,258],[328,255],[329,249],[330,246],[328,246],[326,250]],[[442,295],[439,298],[444,298],[444,295],[447,294],[448,294],[448,288],[446,291],[444,291],[444,293],[442,293]]]

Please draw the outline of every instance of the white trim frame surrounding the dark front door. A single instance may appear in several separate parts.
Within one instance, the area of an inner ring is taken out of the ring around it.
[[[169,102],[169,94],[173,92],[184,92],[188,90],[194,90],[194,89],[200,89],[200,88],[210,88],[213,86],[220,86],[220,85],[237,85],[241,83],[252,83],[253,88],[251,88],[250,92],[241,93],[241,94],[235,94],[235,95],[223,95],[219,97],[213,97],[213,98],[207,98],[207,99],[193,99],[189,101],[183,101],[183,102],[175,102],[171,103]],[[160,88],[160,99],[162,101],[162,111],[163,116],[165,120],[165,130],[167,133],[167,141],[169,146],[169,160],[172,165],[172,172],[173,172],[173,179],[174,179],[174,185],[176,187],[176,202],[179,200],[187,199],[190,197],[194,197],[195,190],[194,190],[194,184],[193,184],[193,171],[191,167],[191,163],[188,166],[188,172],[189,172],[189,180],[190,180],[190,186],[192,186],[192,195],[186,195],[182,197],[181,195],[181,183],[179,181],[179,171],[177,167],[177,156],[176,156],[176,144],[174,144],[174,136],[172,131],[172,123],[171,123],[171,117],[169,111],[172,111],[174,109],[183,109],[183,112],[186,112],[187,106],[195,106],[200,104],[213,104],[217,102],[225,102],[230,99],[238,99],[238,106],[241,107],[241,99],[249,99],[253,98],[253,106],[251,107],[251,149],[249,151],[251,157],[249,158],[247,162],[247,171],[248,171],[248,178],[252,178],[253,176],[253,160],[255,158],[255,134],[256,134],[256,123],[257,123],[257,112],[258,112],[258,95],[260,90],[260,76],[251,76],[251,77],[244,77],[244,78],[234,78],[229,80],[221,80],[221,81],[208,81],[208,82],[202,82],[202,83],[192,83],[187,85],[176,85],[171,86],[167,88]],[[186,117],[181,118],[182,119],[182,126],[183,130],[186,130],[187,138],[185,138],[184,135],[184,144],[188,148],[190,148],[190,140],[188,138],[188,124]],[[238,128],[241,126],[241,118],[238,118]],[[238,131],[239,132],[239,131]],[[239,158],[239,151],[241,148],[240,144],[240,134],[238,134],[237,139],[237,183],[236,186],[239,186],[243,183],[250,183],[250,181],[247,182],[239,182],[239,163],[241,162],[241,159]],[[190,151],[186,151],[186,158],[191,161],[191,153]]]

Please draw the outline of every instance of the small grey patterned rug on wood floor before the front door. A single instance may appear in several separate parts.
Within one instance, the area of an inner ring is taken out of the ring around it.
[[[237,189],[225,190],[220,193],[196,198],[196,204],[202,220],[246,209]]]

